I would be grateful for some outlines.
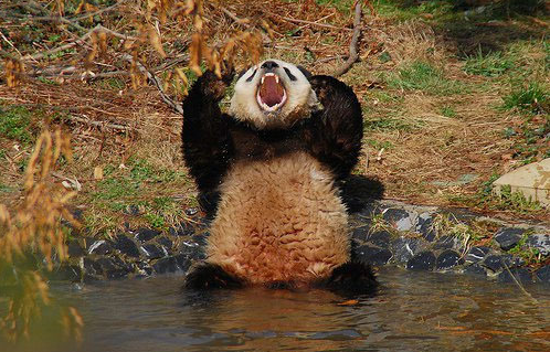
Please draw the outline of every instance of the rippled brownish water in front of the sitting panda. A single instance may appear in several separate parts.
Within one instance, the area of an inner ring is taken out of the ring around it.
[[[181,292],[181,276],[68,296],[86,323],[82,351],[550,351],[548,286],[527,287],[535,302],[464,275],[385,267],[379,278],[380,294],[357,302],[322,290]]]

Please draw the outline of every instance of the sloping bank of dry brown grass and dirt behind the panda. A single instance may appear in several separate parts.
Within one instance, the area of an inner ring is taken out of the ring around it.
[[[550,157],[548,13],[503,15],[496,7],[457,9],[446,1],[371,3],[363,9],[360,61],[340,77],[363,107],[364,148],[355,173],[382,182],[384,199],[548,222],[548,209],[490,193],[499,174]],[[352,1],[228,1],[223,9],[205,9],[213,42],[224,39],[219,29],[267,20],[274,34],[263,57],[314,74],[330,74],[347,58]],[[35,54],[74,41],[57,23],[38,28],[41,45],[29,46],[32,33],[17,21],[1,23],[3,51],[11,43],[22,55]],[[167,81],[172,67],[186,65],[186,23],[179,31],[177,23],[166,24],[167,57],[154,50],[141,54]],[[30,61],[15,87],[0,82],[0,202],[18,202],[35,136],[61,125],[75,161],[61,164],[52,181],[78,190],[73,202],[87,226],[107,233],[125,223],[166,228],[187,217],[197,200],[180,153],[182,117],[157,87],[133,86],[120,51],[108,49],[94,60],[94,79],[47,74],[46,67],[71,64],[82,53],[64,55]],[[237,66],[246,61],[237,57]],[[192,82],[192,72],[186,74]]]

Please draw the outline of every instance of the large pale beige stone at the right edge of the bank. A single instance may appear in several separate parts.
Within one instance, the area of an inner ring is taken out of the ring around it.
[[[493,182],[497,194],[505,185],[512,192],[521,192],[528,200],[550,205],[550,158],[510,171]]]

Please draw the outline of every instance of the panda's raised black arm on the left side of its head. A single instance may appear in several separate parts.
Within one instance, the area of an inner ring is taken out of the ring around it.
[[[228,74],[220,79],[207,71],[183,100],[183,158],[201,198],[215,192],[233,154],[231,119],[219,106],[232,78]]]

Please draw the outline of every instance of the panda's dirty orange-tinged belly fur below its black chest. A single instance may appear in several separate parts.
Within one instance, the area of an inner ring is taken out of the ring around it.
[[[349,260],[346,207],[305,152],[237,162],[221,185],[208,262],[250,284],[310,282]]]

